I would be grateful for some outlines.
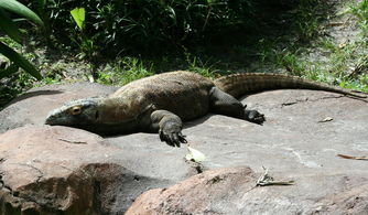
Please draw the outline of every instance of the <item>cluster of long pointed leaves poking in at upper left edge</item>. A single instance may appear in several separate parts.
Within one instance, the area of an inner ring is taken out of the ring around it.
[[[19,31],[13,20],[9,17],[7,11],[17,13],[18,15],[24,17],[37,24],[43,25],[41,19],[22,3],[15,0],[0,1],[0,29],[18,43],[22,42],[21,32]],[[0,42],[0,53],[8,57],[10,62],[12,62],[12,64],[7,68],[0,68],[0,78],[18,72],[19,67],[23,68],[26,73],[31,74],[37,79],[42,78],[41,74],[29,61],[26,61],[22,55],[18,54],[2,42]]]

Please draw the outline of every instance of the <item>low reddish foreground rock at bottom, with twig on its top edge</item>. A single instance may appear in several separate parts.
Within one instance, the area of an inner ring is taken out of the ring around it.
[[[347,183],[349,178],[340,175],[278,176],[295,178],[296,185],[256,186],[257,176],[246,166],[206,171],[143,193],[126,215],[368,213],[367,182]]]

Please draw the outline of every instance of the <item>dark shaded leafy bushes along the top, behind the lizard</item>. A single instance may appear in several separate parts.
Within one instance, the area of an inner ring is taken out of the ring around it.
[[[95,49],[121,52],[161,52],[182,45],[209,42],[245,30],[253,18],[251,0],[53,0],[44,11],[54,35],[71,44],[78,33],[69,11],[85,9],[85,35]],[[35,3],[32,7],[37,8]],[[78,25],[79,26],[79,25]],[[67,36],[66,36],[67,35]],[[113,49],[111,49],[113,47]]]

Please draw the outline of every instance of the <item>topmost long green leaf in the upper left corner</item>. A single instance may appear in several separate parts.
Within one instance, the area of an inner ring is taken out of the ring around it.
[[[0,0],[0,8],[28,18],[29,20],[43,26],[43,22],[37,14],[15,0]]]

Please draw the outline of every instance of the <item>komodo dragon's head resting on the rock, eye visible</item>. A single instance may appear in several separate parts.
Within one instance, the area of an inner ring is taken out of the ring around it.
[[[52,110],[45,123],[51,126],[83,127],[96,123],[99,118],[98,98],[86,98],[66,103]]]

